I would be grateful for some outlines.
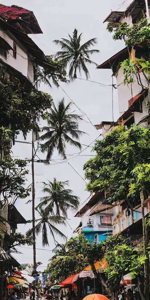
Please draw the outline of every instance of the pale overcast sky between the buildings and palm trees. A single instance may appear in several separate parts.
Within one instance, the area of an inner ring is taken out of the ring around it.
[[[16,4],[34,12],[43,31],[43,35],[37,34],[29,36],[44,51],[45,55],[51,55],[58,51],[58,47],[52,42],[53,40],[65,38],[68,33],[72,35],[74,28],[76,28],[79,34],[82,32],[82,43],[85,43],[91,38],[97,38],[98,43],[93,48],[99,49],[100,53],[92,55],[91,60],[98,64],[103,63],[113,54],[125,47],[123,41],[113,41],[112,34],[106,31],[107,22],[103,24],[103,21],[110,14],[111,9],[124,10],[130,3],[130,0],[3,0],[3,4],[5,5]],[[112,71],[110,69],[98,70],[95,69],[94,65],[89,66],[88,69],[91,77],[90,80],[105,85],[112,84]],[[86,79],[83,73],[82,79]],[[60,83],[60,85],[73,102],[84,111],[84,116],[82,116],[84,121],[80,123],[79,128],[87,134],[80,139],[80,143],[94,146],[93,141],[98,138],[102,131],[97,131],[93,125],[99,124],[101,121],[113,120],[112,87],[104,87],[98,83],[82,79],[76,79],[75,82],[69,85],[66,83]],[[66,104],[70,102],[70,99],[60,87],[56,88],[54,86],[50,89],[48,86],[41,85],[39,89],[49,93],[55,103],[58,99],[60,100],[63,97],[65,98]],[[114,121],[116,121],[119,117],[119,109],[117,90],[115,89],[113,89],[113,108]],[[72,104],[70,112],[81,115],[81,112],[74,104]],[[93,125],[89,123],[86,115]],[[43,125],[45,124],[41,123],[40,126],[42,127]],[[30,142],[31,138],[31,134],[28,134],[26,141]],[[17,137],[17,140],[24,140],[21,134]],[[83,149],[86,148],[84,145]],[[55,152],[53,159],[56,161],[53,162],[53,164],[44,166],[43,164],[35,163],[35,205],[39,203],[40,197],[43,196],[41,192],[43,187],[42,182],[46,182],[47,179],[52,181],[54,177],[59,181],[69,180],[73,195],[80,197],[81,204],[84,201],[84,203],[86,203],[86,199],[90,194],[85,191],[87,181],[84,179],[83,165],[95,154],[91,152],[91,149],[91,147],[88,147],[80,155],[76,156],[71,154],[77,153],[79,150],[68,146],[66,150],[67,161],[60,163],[60,157],[57,152]],[[31,158],[32,145],[15,143],[12,152],[14,158]],[[43,158],[44,156],[39,153],[39,157]],[[32,182],[31,164],[28,165],[28,169],[29,175],[26,177],[26,184],[29,185]],[[32,198],[18,199],[15,204],[16,208],[26,220],[32,219],[32,203],[26,204],[29,199]],[[67,236],[67,239],[71,236],[75,236],[73,229],[75,229],[80,222],[80,218],[73,217],[73,215],[73,213],[68,212],[67,226],[61,226],[61,228],[59,228]],[[38,218],[37,213],[35,217]],[[30,226],[31,224],[19,224],[18,232],[24,234]],[[47,266],[48,260],[54,255],[52,249],[54,249],[55,243],[52,236],[48,234],[49,247],[43,248],[41,238],[41,235],[39,235],[36,240],[36,261],[42,262],[38,270],[43,271]],[[59,243],[64,242],[64,240],[57,236],[56,240]],[[33,263],[32,246],[18,247],[18,250],[21,253],[13,253],[13,256],[19,263]]]

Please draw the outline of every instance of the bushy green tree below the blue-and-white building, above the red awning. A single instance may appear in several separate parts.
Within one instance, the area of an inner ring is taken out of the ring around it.
[[[53,281],[61,276],[68,277],[73,271],[79,272],[88,265],[93,266],[95,260],[103,257],[103,244],[91,244],[82,234],[71,237],[64,247],[64,256],[54,256],[46,270],[50,272],[50,279]]]

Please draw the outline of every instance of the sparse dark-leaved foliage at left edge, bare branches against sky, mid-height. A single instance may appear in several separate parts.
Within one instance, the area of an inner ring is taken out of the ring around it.
[[[0,200],[1,205],[5,201],[12,201],[17,198],[24,199],[30,195],[31,188],[24,187],[25,176],[29,173],[26,170],[27,162],[10,157],[0,160]]]

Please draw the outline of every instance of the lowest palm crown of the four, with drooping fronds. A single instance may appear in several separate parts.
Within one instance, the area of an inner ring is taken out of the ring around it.
[[[40,210],[38,210],[36,208],[36,210],[40,214],[40,218],[35,220],[36,223],[38,222],[35,225],[35,234],[38,236],[42,232],[42,246],[43,247],[49,246],[48,236],[47,236],[47,226],[49,227],[50,233],[51,233],[52,237],[54,238],[55,242],[56,242],[55,234],[58,234],[62,238],[66,239],[66,236],[59,229],[57,229],[55,227],[55,225],[65,225],[66,226],[66,223],[65,223],[66,218],[65,217],[47,214],[45,209],[42,209],[42,208]],[[29,229],[28,232],[26,232],[26,237],[33,237],[33,228]]]

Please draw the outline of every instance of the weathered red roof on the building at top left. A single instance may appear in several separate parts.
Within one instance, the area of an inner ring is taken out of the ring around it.
[[[33,11],[16,5],[6,6],[0,4],[0,16],[11,26],[25,32],[26,34],[43,33]]]

